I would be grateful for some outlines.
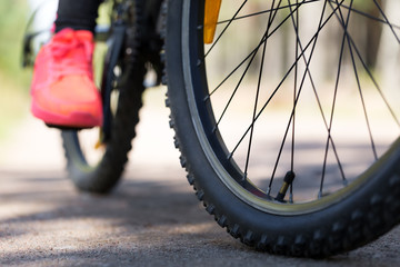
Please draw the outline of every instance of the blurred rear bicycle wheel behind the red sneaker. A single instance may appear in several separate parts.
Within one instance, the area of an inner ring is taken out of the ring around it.
[[[103,68],[102,87],[110,86],[112,89],[108,103],[104,103],[104,95],[108,93],[103,92],[104,120],[109,116],[108,123],[104,122],[104,128],[100,129],[63,130],[61,134],[69,177],[83,191],[103,194],[118,184],[139,122],[146,75],[144,59],[137,51],[141,6],[139,1],[121,4],[124,4],[119,6],[122,9],[116,11],[124,10],[127,24],[121,28],[122,36],[111,36]],[[118,43],[116,38],[120,38],[121,42]]]

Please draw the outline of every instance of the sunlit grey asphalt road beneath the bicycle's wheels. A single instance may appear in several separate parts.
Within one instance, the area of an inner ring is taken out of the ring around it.
[[[399,227],[323,260],[241,245],[186,181],[161,97],[141,118],[127,172],[108,197],[74,190],[56,130],[30,117],[13,129],[0,144],[0,266],[400,266]]]

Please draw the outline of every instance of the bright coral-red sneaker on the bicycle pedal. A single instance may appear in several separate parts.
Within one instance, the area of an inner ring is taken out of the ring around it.
[[[93,82],[93,34],[64,29],[39,51],[31,86],[32,113],[48,125],[102,125],[101,97]]]

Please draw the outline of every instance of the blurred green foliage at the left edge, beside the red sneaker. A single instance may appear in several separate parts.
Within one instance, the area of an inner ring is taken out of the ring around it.
[[[2,0],[0,4],[0,138],[28,107],[31,69],[22,69],[22,38],[27,24],[27,0]]]

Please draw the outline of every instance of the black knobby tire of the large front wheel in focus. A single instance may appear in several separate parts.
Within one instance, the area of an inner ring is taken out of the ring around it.
[[[273,2],[277,4],[280,1]],[[266,3],[271,4],[271,1],[263,4]],[[228,1],[227,4],[232,3]],[[326,4],[331,3],[326,1]],[[312,2],[304,4],[304,8],[307,6],[312,6]],[[294,9],[296,3],[292,7]],[[203,202],[206,210],[214,216],[221,227],[226,227],[234,238],[240,238],[242,243],[260,250],[300,257],[327,257],[370,243],[400,221],[398,108],[392,110],[394,135],[390,145],[386,147],[386,152],[378,154],[373,162],[358,171],[353,179],[342,182],[348,185],[329,191],[328,196],[327,191],[317,190],[314,196],[319,195],[319,198],[304,202],[284,196],[274,197],[257,184],[250,182],[251,172],[244,175],[244,164],[240,164],[240,158],[232,156],[232,148],[227,145],[230,136],[236,131],[243,132],[247,128],[222,131],[216,122],[218,112],[221,112],[217,110],[223,108],[218,109],[218,101],[210,101],[212,97],[209,87],[211,88],[212,81],[208,79],[208,61],[203,60],[204,1],[169,0],[167,8],[167,105],[171,108],[171,127],[176,131],[176,144],[181,151],[181,165],[188,171],[188,180],[193,185],[196,195]],[[288,6],[286,9],[288,11]],[[354,13],[358,11],[361,16],[366,14],[362,10],[353,9]],[[236,22],[239,23],[239,20]],[[398,32],[398,28],[394,31]],[[240,33],[243,34],[241,38],[247,38],[247,32]],[[216,39],[217,37],[218,34]],[[394,43],[399,47],[396,39]],[[230,52],[228,56],[233,57],[234,53]],[[220,77],[220,80],[223,79],[224,77]],[[290,101],[293,103],[293,98]],[[396,101],[394,105],[398,107]],[[236,117],[231,117],[228,125],[234,121]],[[254,120],[252,121],[254,125]],[[317,141],[309,144],[317,145]],[[278,147],[280,146],[279,142]],[[268,159],[268,154],[252,152],[262,160]],[[347,164],[343,162],[344,167]],[[287,169],[287,184],[291,187],[293,184],[290,181],[290,167]],[[339,172],[336,171],[334,176]],[[338,176],[340,177],[340,174]],[[279,179],[280,182],[283,182],[282,180]],[[318,184],[320,182],[319,179]],[[278,190],[272,188],[277,192],[279,189],[280,187]]]

